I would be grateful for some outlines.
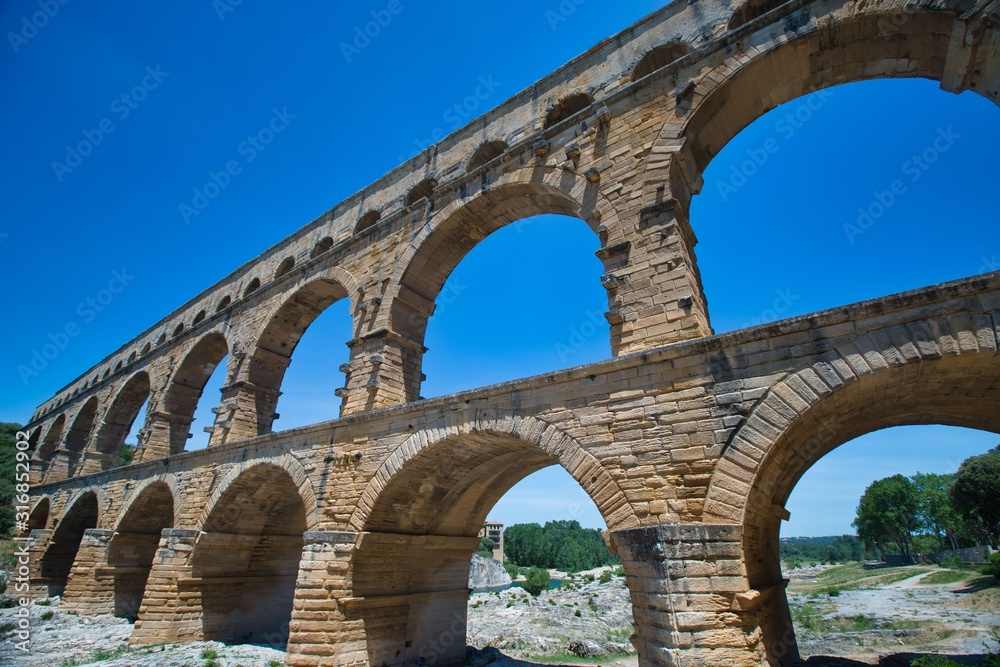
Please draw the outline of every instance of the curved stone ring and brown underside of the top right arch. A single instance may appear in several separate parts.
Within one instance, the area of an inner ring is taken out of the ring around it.
[[[657,144],[676,146],[684,141],[683,167],[690,171],[689,181],[696,182],[736,134],[780,104],[842,83],[945,78],[956,22],[953,12],[889,11],[844,18],[803,15],[803,20],[791,37],[774,33],[765,43],[755,44],[752,58],[742,55],[742,50],[734,51],[703,74],[693,93],[692,111],[683,122],[664,126]]]

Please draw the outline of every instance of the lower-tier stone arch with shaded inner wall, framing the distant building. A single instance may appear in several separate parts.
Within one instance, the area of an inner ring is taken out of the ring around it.
[[[551,465],[580,483],[609,529],[638,525],[597,460],[537,419],[442,419],[396,448],[350,521],[361,536],[345,614],[364,626],[368,664],[464,657],[469,560],[483,521],[512,486]]]

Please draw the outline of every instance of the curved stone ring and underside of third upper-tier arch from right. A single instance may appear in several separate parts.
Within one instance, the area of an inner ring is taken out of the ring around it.
[[[356,290],[346,271],[331,268],[300,285],[268,318],[248,361],[247,377],[258,391],[253,414],[243,415],[254,424],[247,435],[271,431],[281,383],[302,336],[323,311]]]

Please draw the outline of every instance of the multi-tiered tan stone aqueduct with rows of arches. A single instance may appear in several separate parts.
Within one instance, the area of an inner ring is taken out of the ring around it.
[[[1000,274],[713,336],[691,197],[736,133],[811,91],[925,77],[996,101],[998,17],[996,0],[696,0],[602,42],[40,406],[25,428],[33,590],[136,618],[138,645],[446,664],[464,655],[487,512],[561,465],[622,557],[641,665],[795,663],[785,501],[819,458],[876,429],[1000,432]],[[448,275],[493,231],[544,213],[600,239],[613,358],[422,400]],[[354,320],[341,415],[275,432],[295,346],[340,299]],[[223,360],[210,446],[184,452]],[[140,417],[136,463],[115,467]]]

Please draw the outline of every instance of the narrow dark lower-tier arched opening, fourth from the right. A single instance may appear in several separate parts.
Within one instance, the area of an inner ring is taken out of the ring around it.
[[[136,497],[108,545],[114,584],[114,615],[134,623],[139,615],[160,533],[174,525],[174,497],[164,482],[154,482]]]

